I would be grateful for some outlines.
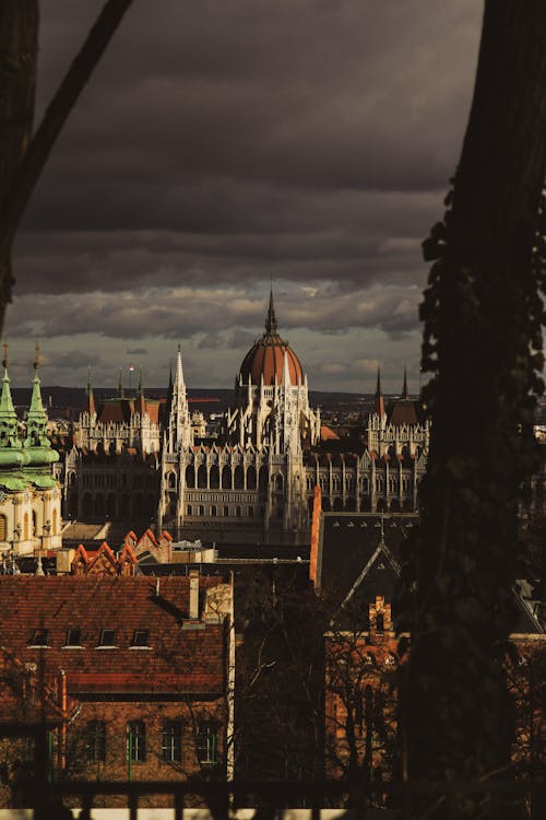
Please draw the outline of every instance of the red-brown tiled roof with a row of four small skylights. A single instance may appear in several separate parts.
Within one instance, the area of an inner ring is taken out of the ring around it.
[[[200,578],[201,590],[221,583]],[[0,666],[37,664],[46,680],[62,669],[69,693],[201,692],[224,684],[223,624],[182,629],[189,578],[143,576],[0,576]],[[48,630],[48,648],[28,645]],[[63,648],[69,629],[81,629],[83,648]],[[116,630],[116,648],[97,648],[100,630]],[[135,630],[149,630],[151,648],[131,648]],[[2,718],[0,682],[0,719]]]

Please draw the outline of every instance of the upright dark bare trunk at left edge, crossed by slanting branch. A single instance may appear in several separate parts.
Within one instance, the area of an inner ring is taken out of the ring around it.
[[[0,211],[32,136],[38,16],[38,0],[0,0]],[[0,328],[10,293],[11,243],[0,258]]]

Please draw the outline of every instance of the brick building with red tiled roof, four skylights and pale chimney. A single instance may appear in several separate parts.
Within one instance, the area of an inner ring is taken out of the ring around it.
[[[50,722],[55,776],[229,774],[230,583],[0,576],[0,722]]]

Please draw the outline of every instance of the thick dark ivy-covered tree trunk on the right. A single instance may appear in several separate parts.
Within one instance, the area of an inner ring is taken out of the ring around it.
[[[401,716],[410,781],[510,776],[503,657],[522,573],[518,507],[536,467],[545,168],[546,3],[486,0],[460,164],[424,243],[432,431],[400,622],[412,633]],[[474,801],[460,809],[480,812]]]

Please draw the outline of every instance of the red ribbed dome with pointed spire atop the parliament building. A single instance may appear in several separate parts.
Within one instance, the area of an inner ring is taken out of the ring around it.
[[[240,375],[244,382],[250,380],[260,385],[263,376],[264,385],[281,384],[283,380],[284,354],[288,360],[288,373],[290,384],[304,383],[301,365],[292,348],[281,339],[276,330],[275,311],[273,307],[273,294],[270,296],[270,309],[265,321],[265,332],[262,338],[254,342],[240,366]]]

